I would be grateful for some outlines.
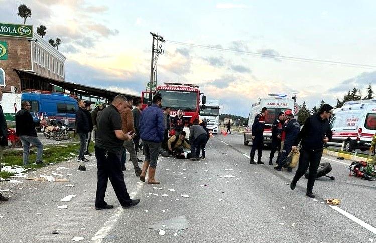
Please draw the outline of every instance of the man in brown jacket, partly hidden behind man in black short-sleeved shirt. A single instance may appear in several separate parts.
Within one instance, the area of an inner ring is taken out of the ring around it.
[[[132,136],[135,133],[135,127],[133,125],[133,115],[132,115],[132,103],[133,98],[127,97],[127,107],[124,109],[123,112],[121,112],[121,128],[122,131],[126,133],[131,133]],[[124,148],[128,151],[131,161],[133,164],[133,167],[135,169],[136,176],[141,175],[141,169],[139,167],[137,155],[136,155],[136,149],[135,149],[135,143],[133,142],[133,139],[124,141]],[[126,158],[123,158],[121,161],[121,167],[123,170],[126,168]]]

